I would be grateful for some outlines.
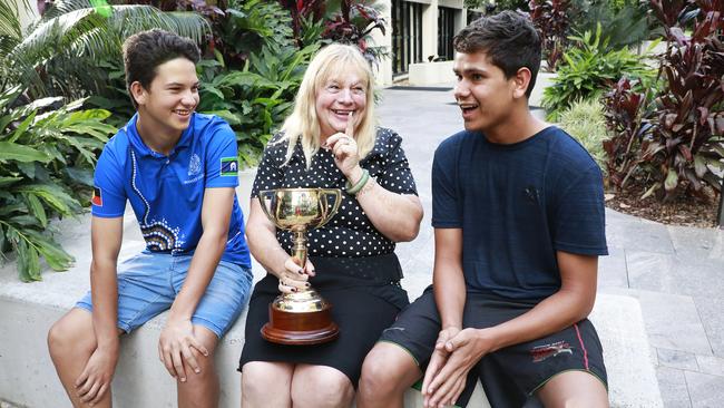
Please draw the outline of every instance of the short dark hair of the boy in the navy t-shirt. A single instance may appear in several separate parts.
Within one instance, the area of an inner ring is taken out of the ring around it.
[[[506,78],[528,68],[531,75],[526,96],[530,97],[540,68],[540,37],[528,16],[505,10],[482,17],[460,30],[452,45],[458,52],[485,52]]]

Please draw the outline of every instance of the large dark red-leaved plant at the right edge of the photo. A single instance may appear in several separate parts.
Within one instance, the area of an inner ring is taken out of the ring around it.
[[[643,197],[706,198],[703,186],[721,193],[724,171],[724,0],[649,1],[667,41],[662,86],[647,98],[622,79],[607,94],[609,182],[624,188],[638,175]]]

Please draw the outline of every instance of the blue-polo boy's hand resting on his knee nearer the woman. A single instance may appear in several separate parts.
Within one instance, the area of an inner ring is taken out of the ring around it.
[[[182,382],[186,381],[184,360],[194,372],[200,372],[192,348],[208,357],[208,350],[194,337],[190,320],[169,319],[158,339],[158,358],[166,366],[168,373]]]

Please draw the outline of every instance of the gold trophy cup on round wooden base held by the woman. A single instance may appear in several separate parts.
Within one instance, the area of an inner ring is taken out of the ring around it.
[[[331,202],[331,198],[334,201]],[[342,202],[337,188],[278,188],[258,194],[262,210],[277,229],[294,234],[292,258],[306,264],[306,231],[326,224]],[[281,344],[317,344],[336,339],[332,305],[312,288],[282,293],[270,304],[262,337]]]

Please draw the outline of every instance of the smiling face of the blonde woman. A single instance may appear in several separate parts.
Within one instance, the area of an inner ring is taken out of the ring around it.
[[[344,76],[332,76],[322,81],[316,89],[315,109],[320,124],[321,138],[326,139],[335,133],[344,133],[350,113],[355,125],[364,117],[368,103],[368,82],[353,70]]]

